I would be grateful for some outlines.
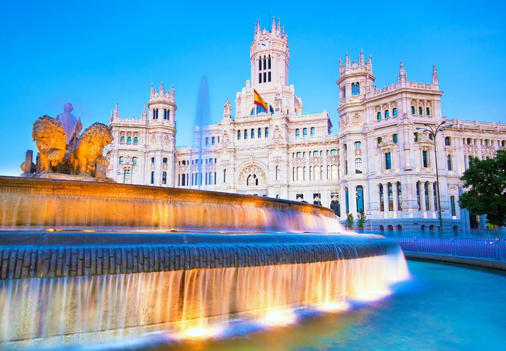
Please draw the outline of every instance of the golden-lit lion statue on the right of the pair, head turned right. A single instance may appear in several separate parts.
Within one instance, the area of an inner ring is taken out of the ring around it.
[[[70,154],[70,165],[74,174],[94,177],[96,163],[109,166],[109,160],[102,156],[105,145],[114,140],[112,133],[103,123],[94,123],[82,132]]]

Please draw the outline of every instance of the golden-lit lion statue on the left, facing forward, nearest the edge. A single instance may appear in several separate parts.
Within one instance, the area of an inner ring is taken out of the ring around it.
[[[63,162],[67,148],[67,134],[62,123],[47,115],[33,123],[32,138],[40,152],[40,172],[52,173]]]

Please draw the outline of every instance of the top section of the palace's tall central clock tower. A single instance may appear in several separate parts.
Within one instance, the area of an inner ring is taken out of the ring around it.
[[[288,35],[281,27],[281,20],[272,17],[270,31],[255,24],[255,34],[250,48],[251,82],[253,87],[266,88],[288,85]]]

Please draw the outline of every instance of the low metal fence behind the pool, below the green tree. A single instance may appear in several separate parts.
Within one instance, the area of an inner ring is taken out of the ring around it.
[[[506,261],[506,240],[484,237],[388,237],[403,251]]]

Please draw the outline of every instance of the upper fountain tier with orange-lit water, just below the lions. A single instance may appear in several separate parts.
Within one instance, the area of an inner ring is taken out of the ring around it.
[[[222,192],[0,177],[1,230],[333,233],[329,208]]]

